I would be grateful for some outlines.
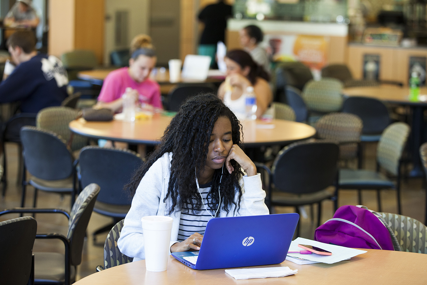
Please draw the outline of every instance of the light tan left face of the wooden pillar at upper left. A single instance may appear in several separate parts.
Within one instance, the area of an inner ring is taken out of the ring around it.
[[[57,57],[74,49],[75,0],[49,0],[49,47]]]

